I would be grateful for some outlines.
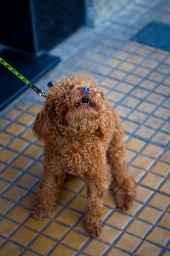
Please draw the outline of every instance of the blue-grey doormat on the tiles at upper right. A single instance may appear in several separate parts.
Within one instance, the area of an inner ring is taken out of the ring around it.
[[[170,25],[152,21],[131,40],[170,52]]]

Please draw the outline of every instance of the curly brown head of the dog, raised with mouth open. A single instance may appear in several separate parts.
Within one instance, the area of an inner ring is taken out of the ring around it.
[[[87,130],[94,132],[104,112],[104,93],[91,76],[64,78],[50,86],[33,130],[41,140],[47,136],[54,137],[58,131],[69,135]]]

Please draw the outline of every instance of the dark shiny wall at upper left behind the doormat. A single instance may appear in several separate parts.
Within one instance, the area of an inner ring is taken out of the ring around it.
[[[84,0],[2,2],[0,43],[25,52],[49,50],[85,23]]]

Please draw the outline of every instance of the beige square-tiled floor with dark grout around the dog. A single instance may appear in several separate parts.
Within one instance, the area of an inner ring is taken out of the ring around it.
[[[130,1],[102,27],[82,28],[54,47],[62,62],[36,82],[46,91],[49,81],[78,72],[99,82],[124,127],[137,188],[132,208],[118,209],[109,191],[102,234],[90,238],[86,187],[77,178],[63,185],[48,218],[30,216],[43,166],[32,124],[44,98],[29,88],[0,117],[0,255],[170,256],[170,52],[130,40],[153,19],[170,24],[168,0]]]

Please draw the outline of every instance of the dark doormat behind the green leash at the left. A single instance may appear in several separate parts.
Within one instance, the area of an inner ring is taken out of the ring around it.
[[[59,57],[51,56],[45,52],[35,56],[3,49],[0,52],[0,56],[31,83],[34,83],[60,62]],[[28,85],[15,76],[7,67],[0,64],[0,110],[26,90],[26,88],[28,88]]]

